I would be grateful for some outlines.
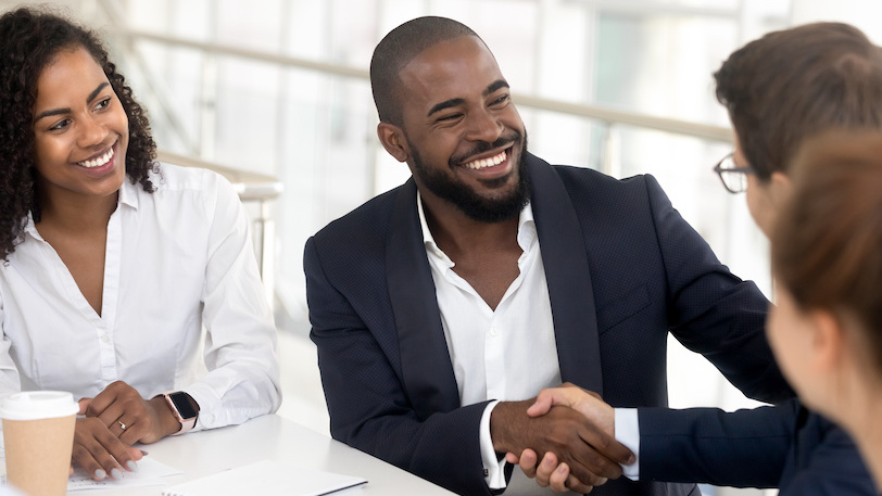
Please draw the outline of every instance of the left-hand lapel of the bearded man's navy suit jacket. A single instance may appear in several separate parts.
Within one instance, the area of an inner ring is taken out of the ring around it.
[[[459,393],[423,244],[413,179],[399,189],[395,199],[386,245],[386,274],[402,378],[411,404],[420,419],[457,408]]]

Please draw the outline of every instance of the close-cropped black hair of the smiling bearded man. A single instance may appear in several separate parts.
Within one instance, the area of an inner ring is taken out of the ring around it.
[[[370,59],[370,88],[380,120],[401,125],[399,73],[429,47],[461,36],[480,37],[468,26],[446,17],[426,16],[407,21],[389,31]]]

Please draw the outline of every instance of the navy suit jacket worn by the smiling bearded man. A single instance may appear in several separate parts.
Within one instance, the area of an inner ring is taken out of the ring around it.
[[[654,178],[527,161],[564,381],[614,406],[665,406],[671,332],[746,395],[792,395],[765,338],[767,300],[719,263]],[[311,238],[304,270],[331,435],[454,492],[490,494],[486,403],[459,404],[413,179]],[[691,491],[620,479],[592,494]]]

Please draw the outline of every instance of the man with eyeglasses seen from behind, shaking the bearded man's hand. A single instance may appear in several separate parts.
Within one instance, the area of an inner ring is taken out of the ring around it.
[[[791,192],[790,160],[799,145],[831,128],[882,128],[882,49],[858,29],[818,23],[747,43],[714,75],[735,150],[715,167],[730,193],[766,236]],[[567,405],[606,425],[638,455],[626,475],[666,482],[780,487],[785,495],[878,495],[857,448],[837,425],[793,399],[774,407],[724,412],[714,408],[614,409],[578,387],[540,393],[528,414]],[[637,431],[622,419],[637,417]],[[628,432],[622,432],[628,431]],[[628,438],[630,436],[630,438]],[[517,461],[513,454],[508,459]],[[540,485],[565,488],[566,468],[552,455],[520,466]]]

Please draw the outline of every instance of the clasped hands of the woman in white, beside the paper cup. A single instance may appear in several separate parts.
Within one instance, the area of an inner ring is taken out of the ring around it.
[[[108,475],[119,479],[122,470],[136,471],[143,454],[131,445],[155,443],[165,435],[156,406],[123,381],[80,399],[79,414],[85,417],[76,421],[72,461],[97,481]]]

